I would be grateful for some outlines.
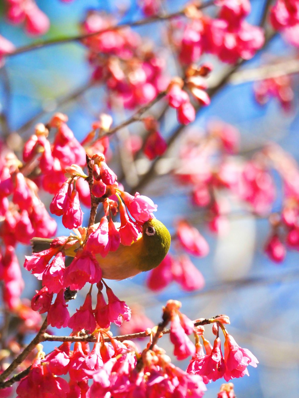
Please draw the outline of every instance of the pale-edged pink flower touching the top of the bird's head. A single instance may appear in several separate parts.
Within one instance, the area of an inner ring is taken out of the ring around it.
[[[123,191],[121,195],[128,211],[135,220],[146,222],[154,217],[153,211],[157,211],[157,205],[149,197],[139,195],[138,192],[135,193],[135,196],[132,196]]]

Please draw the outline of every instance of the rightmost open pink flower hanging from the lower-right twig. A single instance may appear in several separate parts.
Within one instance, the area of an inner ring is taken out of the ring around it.
[[[241,348],[230,334],[226,333],[224,342],[224,361],[226,371],[224,379],[249,376],[247,366],[257,367],[258,360],[247,348]]]

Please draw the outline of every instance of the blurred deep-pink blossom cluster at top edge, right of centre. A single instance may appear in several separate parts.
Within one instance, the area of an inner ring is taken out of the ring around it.
[[[177,37],[179,57],[183,64],[197,62],[201,55],[216,55],[222,62],[235,63],[239,58],[251,59],[264,44],[264,31],[250,25],[245,18],[250,14],[249,0],[214,2],[220,8],[217,18],[211,18],[191,5],[186,15],[181,37]]]

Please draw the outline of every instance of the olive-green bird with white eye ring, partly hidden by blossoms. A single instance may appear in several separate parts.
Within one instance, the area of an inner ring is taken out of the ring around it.
[[[33,253],[50,247],[53,239],[31,239]],[[102,269],[102,278],[122,280],[157,267],[165,258],[171,243],[168,229],[157,219],[149,219],[142,226],[142,234],[130,246],[120,244],[115,252],[106,257],[92,253]],[[73,250],[67,256],[75,257]]]

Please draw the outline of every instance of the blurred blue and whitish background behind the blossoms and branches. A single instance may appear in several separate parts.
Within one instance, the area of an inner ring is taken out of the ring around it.
[[[250,23],[259,24],[266,3],[269,2],[251,1],[252,12],[248,17]],[[51,27],[43,39],[78,34],[80,23],[92,9],[113,14],[115,20],[122,22],[144,18],[134,0],[74,0],[71,4],[58,0],[37,0],[37,4],[51,21]],[[165,12],[181,10],[184,5],[185,2],[180,0],[163,1]],[[209,8],[205,12],[213,15],[214,10]],[[28,37],[21,27],[7,23],[3,2],[1,15],[0,34],[16,47],[40,40]],[[165,23],[155,22],[133,29],[153,46],[155,52],[163,55],[169,76],[179,74],[175,55],[169,46],[165,50]],[[124,109],[119,103],[111,103],[107,100],[104,86],[90,80],[92,67],[87,61],[87,55],[86,47],[79,42],[72,42],[9,57],[0,70],[2,137],[9,136],[11,145],[17,147],[22,140],[33,134],[36,123],[46,123],[55,111],[68,115],[69,127],[79,141],[90,131],[91,123],[102,112],[112,115],[113,126],[130,117],[134,109]],[[269,260],[264,254],[264,245],[269,236],[268,218],[256,217],[251,212],[243,211],[240,200],[231,194],[228,195],[228,200],[233,215],[228,217],[229,228],[226,234],[213,234],[204,222],[202,209],[193,206],[188,187],[177,183],[173,170],[179,166],[178,153],[188,134],[193,137],[202,135],[214,119],[230,123],[240,131],[240,158],[251,158],[255,151],[271,140],[298,161],[298,74],[292,75],[294,98],[291,109],[286,112],[276,99],[260,105],[254,96],[254,83],[248,81],[252,79],[246,72],[249,69],[256,70],[262,64],[296,60],[297,55],[295,47],[287,44],[280,35],[274,35],[263,51],[244,62],[234,78],[216,90],[211,104],[197,112],[195,122],[181,129],[161,160],[154,161],[152,173],[148,174],[152,162],[146,157],[139,156],[134,169],[128,169],[130,159],[124,159],[124,142],[132,135],[144,134],[142,123],[133,123],[119,130],[110,140],[108,164],[119,177],[123,177],[119,181],[125,189],[137,189],[141,195],[153,199],[158,205],[157,218],[173,236],[177,220],[184,218],[192,222],[207,240],[210,251],[205,258],[192,257],[205,279],[205,286],[201,290],[186,292],[172,283],[162,291],[152,292],[145,285],[148,277],[146,274],[124,281],[111,281],[109,285],[130,307],[136,303],[142,305],[145,314],[155,324],[161,320],[161,306],[169,299],[180,300],[182,312],[193,320],[227,314],[231,322],[228,332],[241,347],[250,349],[260,361],[256,369],[250,367],[249,378],[232,380],[238,398],[298,395],[298,253],[288,251],[285,260],[279,265]],[[208,80],[209,87],[217,86],[228,65],[211,55],[205,55],[203,61],[206,60],[214,66]],[[165,104],[162,100],[148,114],[159,115]],[[165,138],[170,137],[178,126],[175,110],[168,108],[161,117],[161,134]],[[145,180],[144,175],[147,175]],[[277,172],[273,172],[273,178],[277,192],[272,211],[279,211],[281,183]],[[40,196],[45,205],[49,205],[51,195],[40,193]],[[88,209],[84,209],[84,212],[88,220]],[[58,217],[56,219],[58,235],[67,234],[61,220]],[[175,250],[176,243],[173,240],[171,252],[174,253]],[[24,255],[29,253],[30,248],[21,245],[18,247],[20,264],[24,262]],[[26,282],[23,297],[31,299],[37,289],[37,281],[27,271],[22,270],[22,273]],[[70,312],[76,306],[78,308],[79,300],[84,299],[87,290],[88,287],[80,292],[82,294],[75,302],[69,303]],[[113,329],[113,333],[120,334],[116,329]],[[206,330],[207,338],[212,341],[211,328],[207,327]],[[69,332],[70,330],[53,330],[54,334],[67,335]],[[30,338],[31,336],[28,341]],[[159,344],[167,352],[172,352],[168,336],[161,339]],[[141,342],[140,347],[143,345],[144,342]],[[54,343],[45,343],[45,352],[54,346]],[[188,361],[172,360],[182,369],[188,365]],[[209,384],[205,396],[216,397],[223,381]]]

